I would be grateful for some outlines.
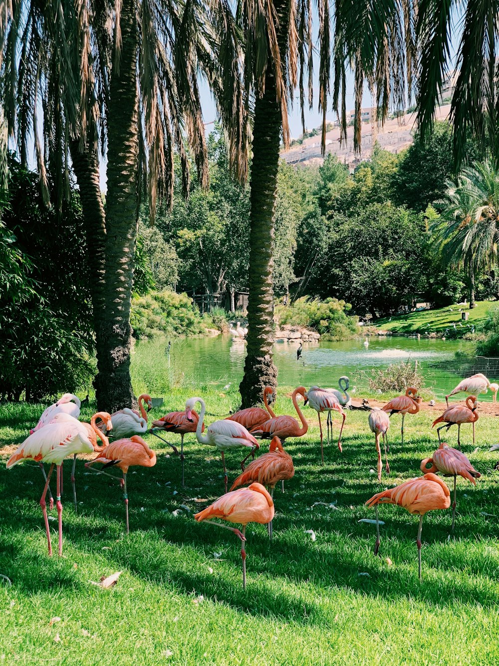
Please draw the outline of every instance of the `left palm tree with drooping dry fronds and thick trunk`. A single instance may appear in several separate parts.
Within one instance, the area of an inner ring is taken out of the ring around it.
[[[94,271],[98,404],[131,406],[130,300],[138,197],[150,212],[173,193],[174,151],[184,192],[190,161],[208,184],[198,75],[210,83],[244,180],[248,124],[238,63],[240,44],[224,0],[168,3],[65,1],[7,3],[0,17],[1,93],[11,137],[27,161],[35,136],[45,199],[69,190],[69,154],[82,194]],[[21,57],[18,57],[18,53]],[[18,69],[19,66],[19,69]],[[37,113],[43,105],[43,141]],[[98,145],[107,147],[106,211],[98,188]],[[49,192],[47,170],[55,181]]]

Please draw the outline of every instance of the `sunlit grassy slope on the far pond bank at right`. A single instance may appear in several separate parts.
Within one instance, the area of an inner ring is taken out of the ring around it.
[[[468,324],[477,326],[477,324],[486,320],[489,310],[498,306],[498,302],[482,300],[476,303],[476,308],[473,308],[473,310],[470,310],[468,305],[452,305],[438,310],[420,310],[420,312],[401,314],[391,317],[391,320],[389,318],[378,319],[373,323],[378,328],[390,330],[394,333],[443,333],[448,328],[449,338],[462,338],[465,333],[470,332],[470,329],[466,328]],[[469,313],[470,317],[467,322],[461,320],[460,308]],[[459,326],[460,323],[462,323],[462,328]],[[452,324],[456,324],[456,331],[454,331]]]

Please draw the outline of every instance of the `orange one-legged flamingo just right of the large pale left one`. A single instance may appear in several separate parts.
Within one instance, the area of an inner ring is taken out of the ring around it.
[[[148,447],[147,442],[144,442],[142,437],[133,435],[130,439],[124,438],[112,442],[112,444],[106,446],[104,451],[97,456],[97,458],[94,458],[91,462],[86,462],[85,467],[92,470],[92,465],[96,462],[104,464],[104,468],[102,469],[115,466],[120,468],[123,472],[123,478],[120,479],[120,486],[123,489],[126,533],[128,534],[128,495],[126,494],[126,474],[128,474],[128,468],[136,465],[140,467],[154,467],[154,465],[156,465],[156,454]],[[102,470],[93,471],[98,472],[98,474],[106,474],[106,472],[102,472]],[[116,479],[112,474],[106,474],[106,476]]]

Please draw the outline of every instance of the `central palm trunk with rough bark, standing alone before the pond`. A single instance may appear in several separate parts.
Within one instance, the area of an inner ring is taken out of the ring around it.
[[[285,63],[287,0],[275,0],[279,18],[281,63]],[[284,64],[283,64],[284,66]],[[251,161],[248,346],[240,384],[242,407],[261,402],[265,386],[277,386],[273,345],[274,208],[281,141],[281,109],[270,64],[265,73],[265,93],[255,101],[253,159]]]

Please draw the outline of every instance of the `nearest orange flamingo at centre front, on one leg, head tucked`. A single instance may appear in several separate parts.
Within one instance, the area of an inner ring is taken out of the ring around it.
[[[241,532],[236,527],[211,523],[212,525],[217,525],[217,527],[230,529],[241,539],[243,589],[246,589],[246,550],[244,549],[246,525],[248,523],[269,523],[273,519],[273,514],[274,508],[271,496],[261,484],[254,483],[249,488],[240,488],[239,490],[233,490],[230,493],[222,495],[221,498],[218,498],[218,500],[194,516],[194,519],[198,522],[221,518],[230,523],[240,523],[242,525],[243,529]]]

